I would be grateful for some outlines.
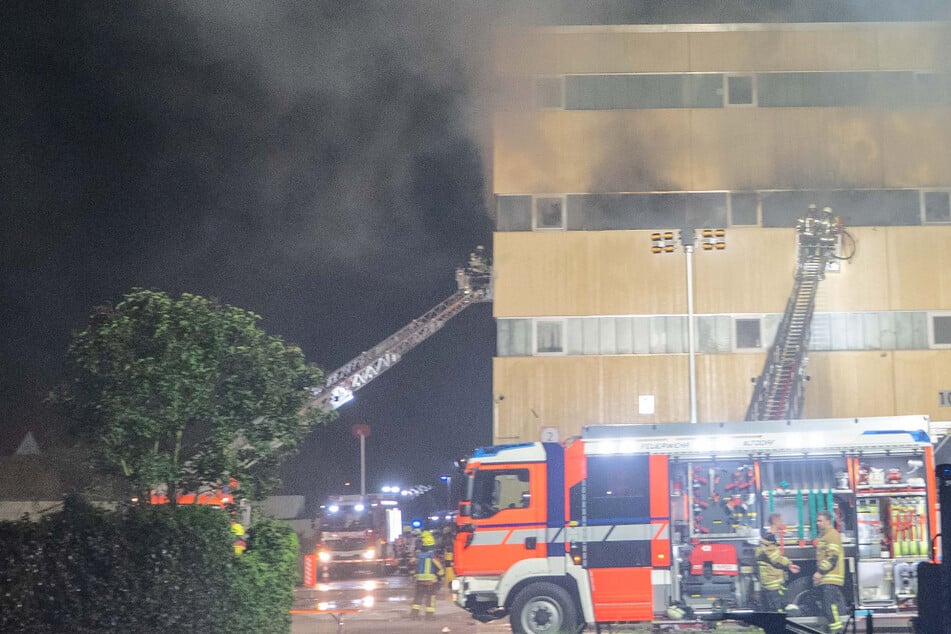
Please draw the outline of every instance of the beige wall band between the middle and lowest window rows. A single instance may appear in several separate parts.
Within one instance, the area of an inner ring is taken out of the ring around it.
[[[951,225],[846,229],[854,255],[819,285],[816,311],[951,310]],[[652,254],[649,234],[497,233],[495,316],[685,314],[683,249]],[[695,313],[783,312],[795,241],[792,228],[737,227],[725,250],[695,251]]]

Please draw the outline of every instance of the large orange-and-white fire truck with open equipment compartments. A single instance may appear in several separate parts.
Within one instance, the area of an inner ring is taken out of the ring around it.
[[[592,425],[564,445],[479,449],[459,508],[457,602],[533,634],[755,610],[754,551],[779,513],[780,546],[801,567],[789,612],[818,622],[816,516],[828,511],[846,599],[912,610],[916,565],[934,556],[934,466],[925,416]]]

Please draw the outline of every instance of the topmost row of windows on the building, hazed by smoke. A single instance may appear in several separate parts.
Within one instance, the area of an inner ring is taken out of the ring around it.
[[[947,73],[812,71],[564,75],[533,80],[537,108],[913,107],[951,103]]]

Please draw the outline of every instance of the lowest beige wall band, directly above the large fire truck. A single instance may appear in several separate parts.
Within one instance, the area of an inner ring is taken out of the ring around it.
[[[700,422],[743,420],[765,354],[697,355]],[[803,418],[925,414],[951,419],[938,391],[951,389],[951,351],[814,352]],[[496,442],[562,438],[591,423],[689,421],[687,355],[496,358]],[[654,397],[654,414],[638,398]],[[500,398],[501,397],[501,398]]]

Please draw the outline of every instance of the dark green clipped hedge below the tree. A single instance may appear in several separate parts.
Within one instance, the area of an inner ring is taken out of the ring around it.
[[[0,631],[290,632],[297,538],[203,506],[93,508],[68,498],[40,522],[0,522]]]

